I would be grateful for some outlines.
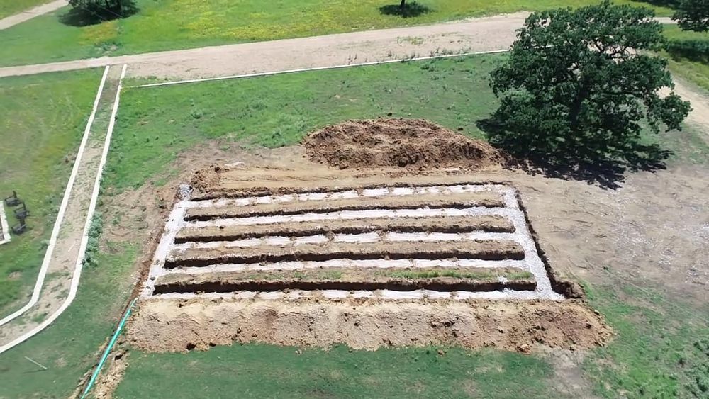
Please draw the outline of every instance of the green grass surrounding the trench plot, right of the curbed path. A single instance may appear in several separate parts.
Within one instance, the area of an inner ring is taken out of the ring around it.
[[[503,57],[126,89],[100,197],[104,225],[112,225],[111,215],[121,211],[121,207],[108,205],[111,196],[145,184],[160,184],[176,173],[170,165],[180,152],[206,140],[277,147],[293,144],[327,123],[389,112],[429,118],[449,128],[462,127],[464,133],[480,137],[476,120],[487,116],[497,104],[486,74]],[[672,137],[683,136],[662,136],[670,146],[686,147]],[[132,218],[140,220],[147,211],[138,208]],[[135,220],[118,223],[125,224],[122,228],[135,228]],[[102,238],[99,259],[84,271],[79,296],[67,313],[38,337],[0,356],[0,380],[4,381],[0,397],[67,397],[72,393],[113,332],[134,282],[135,261],[143,245],[130,236],[120,241]],[[676,310],[684,304],[667,305],[654,294],[641,293],[644,296],[636,298],[632,293],[633,304],[626,305],[628,291],[589,288],[592,305],[608,317],[621,337],[595,351],[584,365],[598,395],[614,397],[625,390],[628,397],[638,397],[646,392],[700,389],[702,376],[696,371],[706,363],[707,355],[700,348],[709,331]],[[709,310],[684,306],[698,314]],[[268,345],[216,347],[190,354],[133,350],[117,395],[233,397],[239,392],[243,397],[359,393],[371,397],[385,392],[391,396],[478,393],[510,398],[524,391],[525,396],[545,398],[554,393],[552,364],[537,355],[449,349],[445,356],[438,356],[437,348],[426,351],[349,352],[337,348],[298,354],[296,348]],[[24,356],[48,365],[49,370],[34,372],[36,366]],[[673,363],[676,359],[684,359],[686,366],[678,368]],[[462,366],[457,367],[459,364]],[[376,368],[379,373],[374,373]],[[201,382],[194,376],[200,376]],[[700,382],[693,388],[692,381]]]

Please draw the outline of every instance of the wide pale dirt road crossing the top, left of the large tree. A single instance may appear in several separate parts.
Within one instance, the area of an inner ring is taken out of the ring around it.
[[[515,29],[526,16],[515,13],[431,26],[4,67],[0,77],[127,63],[133,77],[196,78],[501,50],[513,42]]]

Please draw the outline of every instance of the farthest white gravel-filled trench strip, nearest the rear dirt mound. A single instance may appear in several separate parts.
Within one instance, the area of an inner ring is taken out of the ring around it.
[[[187,208],[222,208],[225,206],[250,206],[257,203],[288,203],[292,201],[332,201],[352,198],[381,198],[386,196],[410,196],[424,194],[446,195],[450,193],[478,193],[481,191],[501,191],[503,184],[450,184],[447,186],[409,186],[381,187],[364,189],[361,193],[354,190],[332,191],[329,193],[284,194],[281,196],[253,196],[245,198],[220,198],[218,200],[189,201]]]

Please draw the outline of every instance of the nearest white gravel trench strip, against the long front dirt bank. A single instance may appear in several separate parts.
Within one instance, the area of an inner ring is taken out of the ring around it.
[[[546,300],[563,300],[559,297],[549,298],[537,291],[514,291],[504,289],[502,291],[431,291],[431,290],[415,290],[415,291],[393,291],[393,290],[376,290],[376,291],[344,291],[344,290],[289,290],[284,291],[238,291],[235,293],[160,293],[151,298],[155,299],[221,299],[221,300],[300,300],[308,298],[318,298],[327,300],[345,300],[357,298],[379,298],[385,300],[418,300],[418,299],[450,299],[450,300],[468,300],[468,299],[487,299],[487,300],[530,300],[530,299],[546,299]]]

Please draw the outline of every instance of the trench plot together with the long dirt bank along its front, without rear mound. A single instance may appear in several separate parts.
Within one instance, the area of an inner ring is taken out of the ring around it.
[[[552,288],[513,186],[430,181],[179,201],[129,339],[149,351],[603,340],[598,317]],[[545,327],[510,335],[527,324]]]

